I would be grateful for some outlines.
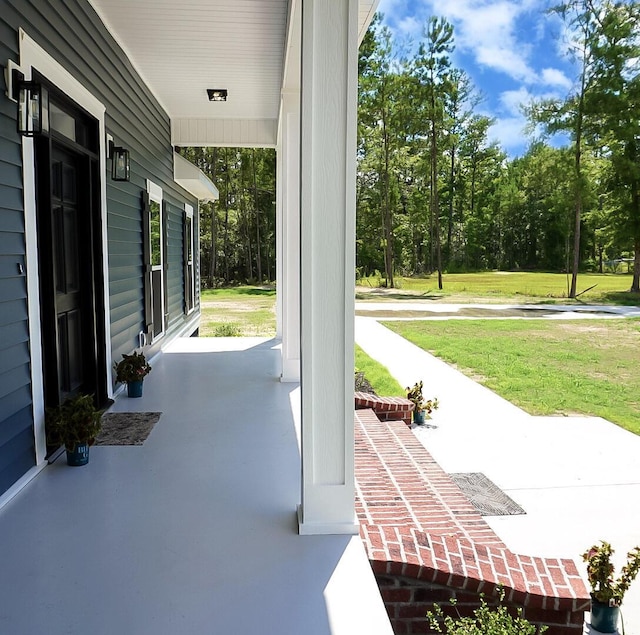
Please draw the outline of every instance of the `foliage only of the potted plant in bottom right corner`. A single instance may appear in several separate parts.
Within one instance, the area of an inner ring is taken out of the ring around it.
[[[587,549],[582,559],[587,563],[591,597],[609,606],[620,606],[640,570],[640,547],[634,547],[627,553],[627,563],[622,567],[618,579],[614,579],[615,569],[611,562],[613,553],[611,545],[602,540],[600,544]]]

